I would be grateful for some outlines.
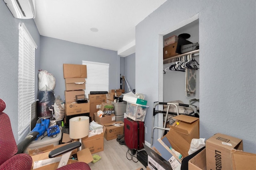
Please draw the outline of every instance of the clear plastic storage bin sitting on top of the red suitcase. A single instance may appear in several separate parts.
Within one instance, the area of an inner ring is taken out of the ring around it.
[[[127,102],[126,116],[134,121],[145,121],[149,106]]]

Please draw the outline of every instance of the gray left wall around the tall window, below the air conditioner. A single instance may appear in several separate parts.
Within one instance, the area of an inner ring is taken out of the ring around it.
[[[35,69],[40,66],[40,35],[33,19],[22,20],[12,16],[12,13],[0,0],[0,98],[6,102],[4,112],[8,114],[12,131],[18,143],[18,24],[25,23],[38,48],[35,50]],[[38,91],[38,78],[35,76],[35,91]],[[37,93],[35,93],[37,98]],[[29,132],[26,130],[25,136]],[[23,136],[24,137],[24,136]]]

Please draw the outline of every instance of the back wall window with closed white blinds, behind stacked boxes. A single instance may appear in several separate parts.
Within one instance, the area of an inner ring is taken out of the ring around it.
[[[90,91],[108,91],[108,63],[82,61],[87,68],[85,94],[88,98]]]

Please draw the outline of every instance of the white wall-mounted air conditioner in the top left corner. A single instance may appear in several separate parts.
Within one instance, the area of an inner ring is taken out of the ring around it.
[[[32,0],[4,0],[14,18],[30,19],[36,17]]]

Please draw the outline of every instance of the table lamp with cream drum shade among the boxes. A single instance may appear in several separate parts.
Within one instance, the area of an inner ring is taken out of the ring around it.
[[[89,135],[89,126],[88,116],[77,116],[69,119],[69,137],[79,139],[82,144],[82,138]],[[82,145],[79,150],[82,150]]]

